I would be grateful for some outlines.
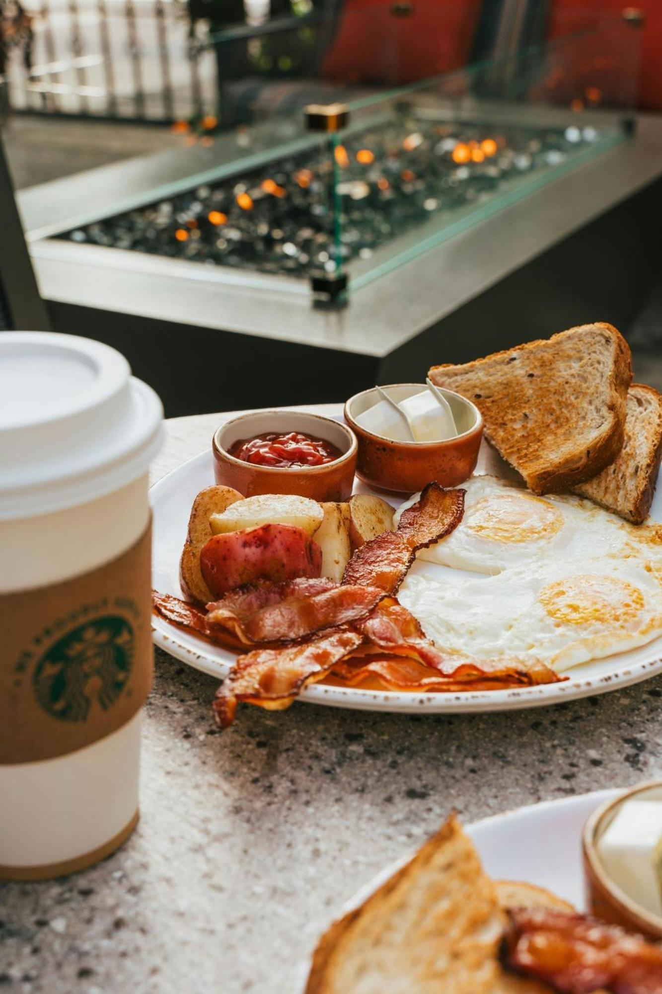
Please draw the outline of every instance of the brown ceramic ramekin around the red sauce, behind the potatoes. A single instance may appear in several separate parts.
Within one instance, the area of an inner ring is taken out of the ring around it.
[[[257,466],[231,455],[235,442],[256,435],[301,431],[324,438],[339,448],[342,455],[321,466],[279,469]],[[318,501],[347,500],[354,485],[357,442],[348,427],[331,417],[305,414],[302,411],[256,411],[241,414],[222,424],[214,432],[214,474],[217,483],[234,487],[246,497],[254,494],[298,494]]]

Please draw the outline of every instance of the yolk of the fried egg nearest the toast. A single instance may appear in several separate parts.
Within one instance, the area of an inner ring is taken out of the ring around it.
[[[466,527],[492,542],[540,542],[561,531],[563,515],[547,501],[524,494],[499,494],[477,501]]]

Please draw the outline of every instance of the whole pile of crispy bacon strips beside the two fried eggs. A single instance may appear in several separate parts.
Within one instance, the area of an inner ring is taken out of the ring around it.
[[[402,515],[398,532],[385,532],[355,553],[342,584],[324,578],[264,581],[231,590],[208,604],[206,613],[155,592],[154,609],[167,620],[221,645],[253,650],[240,656],[217,694],[219,724],[232,724],[241,701],[281,710],[325,678],[418,692],[503,690],[562,679],[540,662],[440,652],[390,595],[415,551],[452,531],[463,507],[463,490],[428,484]]]

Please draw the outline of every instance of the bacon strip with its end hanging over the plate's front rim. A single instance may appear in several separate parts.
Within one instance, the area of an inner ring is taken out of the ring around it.
[[[217,691],[214,712],[219,725],[232,725],[240,701],[270,710],[289,707],[304,687],[325,677],[362,641],[359,632],[338,628],[301,645],[255,649],[241,656]]]

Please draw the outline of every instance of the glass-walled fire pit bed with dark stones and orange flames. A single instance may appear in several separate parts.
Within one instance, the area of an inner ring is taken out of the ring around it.
[[[335,133],[298,112],[296,140],[60,237],[356,288],[624,140],[637,55],[619,19],[355,100]]]

